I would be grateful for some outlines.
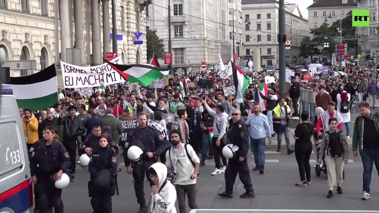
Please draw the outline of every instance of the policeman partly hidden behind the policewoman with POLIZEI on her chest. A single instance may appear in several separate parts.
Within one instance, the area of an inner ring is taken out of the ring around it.
[[[79,155],[83,155],[84,153],[87,153],[88,156],[91,156],[92,150],[95,147],[99,147],[100,135],[101,135],[100,125],[99,124],[92,125],[92,134],[89,134],[86,137],[85,141],[81,144],[81,147],[79,149]],[[110,147],[116,150],[116,153],[118,154],[119,148],[116,142],[114,141],[114,139],[112,138],[112,136],[109,135],[108,133],[105,133],[104,135],[108,137],[108,141],[110,141],[109,142]]]

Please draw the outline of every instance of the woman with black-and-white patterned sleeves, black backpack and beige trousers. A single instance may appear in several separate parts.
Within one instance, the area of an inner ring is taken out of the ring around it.
[[[329,191],[327,198],[333,197],[333,186],[337,185],[337,193],[342,194],[342,173],[343,167],[348,163],[349,146],[344,132],[337,128],[337,118],[329,118],[328,131],[324,131],[318,152],[318,163],[321,163],[323,157],[327,164],[328,186]]]

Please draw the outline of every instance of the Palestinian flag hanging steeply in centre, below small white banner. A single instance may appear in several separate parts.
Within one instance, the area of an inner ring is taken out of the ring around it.
[[[249,77],[235,63],[230,63],[232,63],[233,81],[236,89],[235,100],[238,103],[244,103],[243,97],[247,86],[249,86]]]

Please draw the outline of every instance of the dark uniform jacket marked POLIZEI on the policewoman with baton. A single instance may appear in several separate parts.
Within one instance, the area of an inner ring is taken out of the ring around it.
[[[117,172],[117,153],[109,144],[106,147],[99,146],[92,149],[91,161],[88,164],[89,174],[94,179],[96,179],[97,173],[104,169],[112,175]]]

